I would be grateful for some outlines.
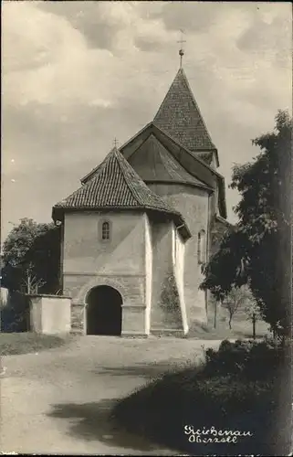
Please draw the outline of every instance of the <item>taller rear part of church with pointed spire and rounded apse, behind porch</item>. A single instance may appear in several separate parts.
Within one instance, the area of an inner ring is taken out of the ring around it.
[[[183,264],[187,321],[189,328],[207,324],[208,295],[199,285],[204,264],[215,250],[213,235],[227,226],[225,181],[216,171],[218,152],[182,67],[153,122],[120,150],[190,228]]]

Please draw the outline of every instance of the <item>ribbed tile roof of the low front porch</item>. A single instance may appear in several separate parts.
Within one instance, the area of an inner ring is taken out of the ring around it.
[[[116,147],[84,186],[53,207],[52,217],[61,219],[66,210],[89,209],[160,211],[170,215],[177,227],[183,227],[183,235],[190,237],[182,215],[152,192]]]

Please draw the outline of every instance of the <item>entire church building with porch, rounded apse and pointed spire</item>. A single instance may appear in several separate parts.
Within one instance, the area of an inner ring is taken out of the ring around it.
[[[207,323],[203,266],[228,224],[218,166],[180,68],[153,121],[53,207],[72,330],[186,335]]]

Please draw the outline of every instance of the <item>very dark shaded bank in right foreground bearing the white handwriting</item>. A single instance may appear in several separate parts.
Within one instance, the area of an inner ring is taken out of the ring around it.
[[[187,376],[182,372],[134,392],[118,404],[114,415],[132,433],[191,455],[267,455],[278,445],[274,441],[278,431],[276,388],[272,381],[197,379],[191,372]],[[249,431],[252,437],[237,445],[215,444],[208,448],[188,442],[183,435],[187,424],[192,424],[194,430],[214,426],[216,430]]]

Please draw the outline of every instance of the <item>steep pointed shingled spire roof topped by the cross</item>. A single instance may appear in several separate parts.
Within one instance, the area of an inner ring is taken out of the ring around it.
[[[183,69],[179,69],[153,122],[190,151],[215,150]]]

